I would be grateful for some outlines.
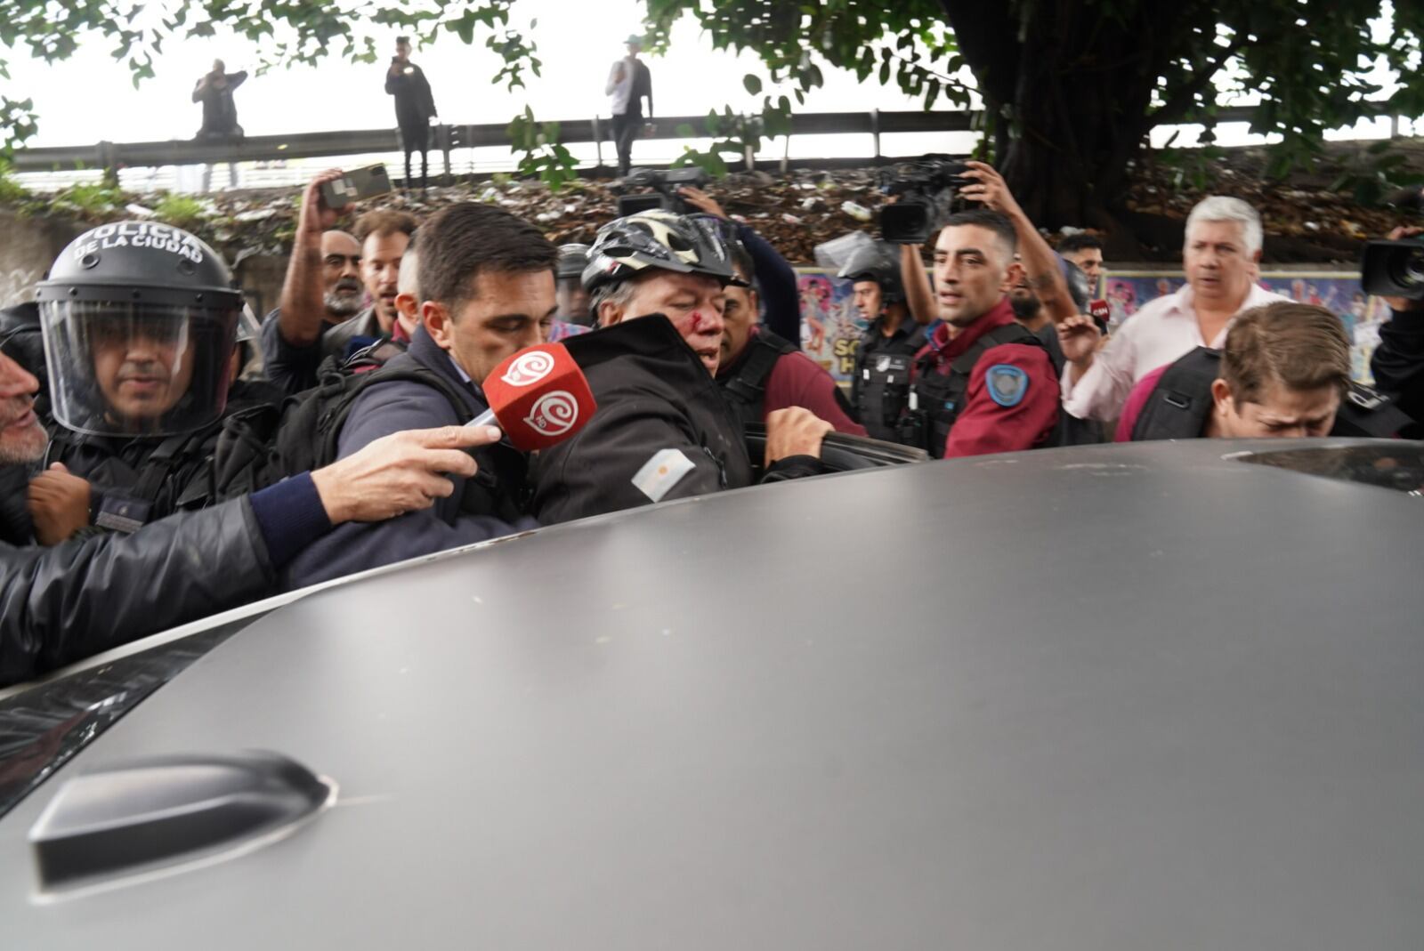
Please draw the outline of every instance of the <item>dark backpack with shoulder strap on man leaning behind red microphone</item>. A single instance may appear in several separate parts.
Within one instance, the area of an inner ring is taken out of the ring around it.
[[[214,453],[218,498],[246,495],[332,464],[356,399],[369,386],[400,380],[434,387],[460,419],[476,416],[470,396],[426,366],[382,366],[360,353],[345,363],[328,357],[315,387],[289,396],[281,406],[256,406],[224,421]]]

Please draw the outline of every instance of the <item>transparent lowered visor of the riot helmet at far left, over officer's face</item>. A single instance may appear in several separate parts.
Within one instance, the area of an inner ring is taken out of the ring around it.
[[[107,300],[40,303],[54,419],[94,436],[172,436],[228,401],[241,310]]]

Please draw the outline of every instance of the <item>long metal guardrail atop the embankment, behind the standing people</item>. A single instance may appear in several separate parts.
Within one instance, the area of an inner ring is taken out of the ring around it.
[[[1250,121],[1256,107],[1230,107],[1219,110],[1215,122]],[[1376,115],[1384,115],[1376,110]],[[795,135],[869,134],[874,138],[874,158],[880,158],[880,137],[896,132],[968,132],[980,127],[983,114],[971,111],[941,112],[793,112]],[[656,117],[651,120],[655,130],[642,135],[645,140],[685,140],[679,127],[691,125],[705,130],[705,115]],[[1396,118],[1396,130],[1397,118]],[[450,168],[450,152],[456,148],[478,148],[508,145],[508,124],[484,125],[437,125],[434,127],[434,152],[444,152],[446,168]],[[790,138],[787,137],[787,138]],[[698,135],[696,138],[713,138]],[[564,144],[598,145],[598,164],[602,165],[602,144],[612,141],[612,122],[602,118],[571,120],[560,122],[560,141]],[[198,165],[219,162],[278,161],[292,158],[322,158],[335,155],[363,155],[373,152],[399,152],[400,137],[393,128],[359,130],[340,132],[299,132],[295,135],[249,135],[242,140],[209,142],[197,140],[169,140],[167,142],[98,142],[97,145],[67,145],[57,148],[26,148],[14,152],[13,168],[17,172],[158,168],[167,165]]]

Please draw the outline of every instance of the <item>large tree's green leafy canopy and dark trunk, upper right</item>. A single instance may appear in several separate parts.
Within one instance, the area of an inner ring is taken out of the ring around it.
[[[1259,100],[1253,131],[1283,137],[1277,172],[1319,154],[1326,130],[1424,115],[1417,1],[645,1],[655,37],[695,17],[715,47],[755,53],[797,101],[844,68],[894,81],[926,108],[983,103],[994,161],[1044,224],[1111,226],[1148,132],[1210,122],[1225,94]],[[1377,70],[1400,83],[1384,101]]]

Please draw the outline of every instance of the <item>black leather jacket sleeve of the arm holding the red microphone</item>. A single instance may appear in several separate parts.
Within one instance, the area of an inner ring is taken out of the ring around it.
[[[27,681],[272,589],[246,500],[184,513],[137,535],[54,548],[0,540],[0,686]]]

